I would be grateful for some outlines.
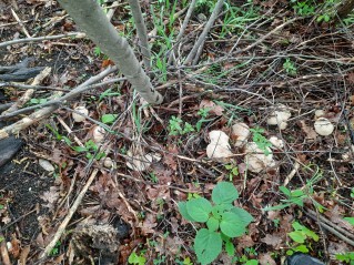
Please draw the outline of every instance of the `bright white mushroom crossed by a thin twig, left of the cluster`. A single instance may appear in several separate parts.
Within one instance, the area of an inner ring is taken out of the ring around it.
[[[206,155],[209,159],[222,160],[232,155],[229,136],[224,132],[211,131],[209,137],[211,141],[206,146]]]

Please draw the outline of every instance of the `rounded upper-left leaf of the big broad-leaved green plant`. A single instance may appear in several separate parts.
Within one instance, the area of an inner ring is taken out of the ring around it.
[[[212,205],[204,197],[192,198],[186,202],[186,212],[196,222],[206,222],[211,211]]]

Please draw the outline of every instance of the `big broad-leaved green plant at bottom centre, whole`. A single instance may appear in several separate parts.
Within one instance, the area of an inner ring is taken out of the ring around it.
[[[212,191],[212,203],[204,197],[179,203],[182,216],[191,222],[205,223],[206,228],[196,232],[194,251],[201,264],[213,262],[224,247],[234,254],[233,237],[242,236],[253,221],[249,212],[233,206],[239,198],[237,190],[230,182],[220,182]]]

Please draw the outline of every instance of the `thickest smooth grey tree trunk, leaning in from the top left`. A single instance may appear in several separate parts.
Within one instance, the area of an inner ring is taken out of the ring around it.
[[[95,0],[58,1],[103,53],[112,59],[146,102],[152,104],[162,102],[162,95],[152,86],[132,48],[119,35]]]

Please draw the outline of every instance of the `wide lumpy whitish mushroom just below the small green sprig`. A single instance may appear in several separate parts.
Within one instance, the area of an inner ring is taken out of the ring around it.
[[[273,153],[270,147],[266,147],[267,155],[256,145],[251,142],[245,146],[245,163],[251,172],[259,173],[267,167],[274,166],[275,161],[273,160]]]

